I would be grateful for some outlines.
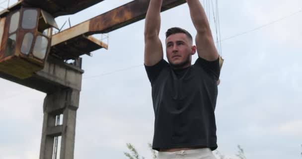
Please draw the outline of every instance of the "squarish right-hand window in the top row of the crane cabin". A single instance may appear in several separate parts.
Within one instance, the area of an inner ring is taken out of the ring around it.
[[[35,9],[26,9],[23,12],[22,28],[33,29],[37,25],[38,11]]]

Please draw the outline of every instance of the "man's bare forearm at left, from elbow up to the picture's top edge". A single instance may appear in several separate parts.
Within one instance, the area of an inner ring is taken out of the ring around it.
[[[160,30],[160,8],[162,0],[151,0],[146,15],[145,38],[158,36]]]

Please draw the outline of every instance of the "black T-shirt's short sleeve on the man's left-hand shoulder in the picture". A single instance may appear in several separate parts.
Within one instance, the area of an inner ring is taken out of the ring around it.
[[[148,75],[148,78],[149,78],[151,84],[158,77],[160,71],[163,68],[167,67],[168,65],[169,64],[163,59],[153,66],[145,65],[145,69],[146,69],[146,72],[147,72],[147,75]]]

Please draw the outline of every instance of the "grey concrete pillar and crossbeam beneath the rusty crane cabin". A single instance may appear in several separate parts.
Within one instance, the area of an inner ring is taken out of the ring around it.
[[[68,64],[52,56],[48,57],[43,70],[28,79],[17,79],[0,72],[0,78],[47,93],[43,107],[40,159],[74,159],[76,110],[83,73],[81,58]],[[63,123],[59,124],[57,117],[61,114]],[[54,148],[58,146],[55,145],[55,138],[59,136],[60,157],[53,158]]]

